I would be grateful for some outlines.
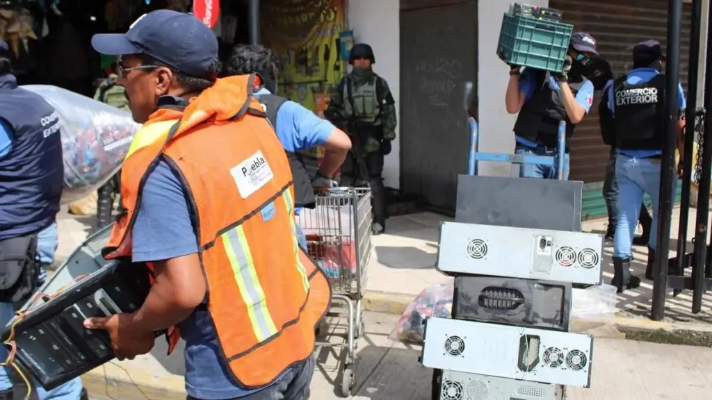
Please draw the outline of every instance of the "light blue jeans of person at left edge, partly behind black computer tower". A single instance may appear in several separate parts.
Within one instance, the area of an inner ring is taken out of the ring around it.
[[[44,228],[37,234],[37,256],[41,263],[51,264],[54,261],[54,252],[57,250],[57,223]],[[44,268],[40,271],[46,277]],[[39,285],[38,285],[39,287]],[[15,306],[11,302],[0,302],[0,325],[7,325],[15,315]],[[7,358],[7,349],[0,346],[0,359]],[[12,367],[0,368],[0,391],[11,389]],[[36,379],[28,376],[32,380],[34,389],[37,389],[37,396],[40,400],[78,400],[82,392],[82,381],[79,378],[72,379],[66,384],[58,386],[51,391],[46,391]]]

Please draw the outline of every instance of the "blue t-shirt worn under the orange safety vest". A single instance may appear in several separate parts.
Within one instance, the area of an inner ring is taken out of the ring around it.
[[[166,260],[197,253],[198,240],[186,191],[172,167],[161,161],[143,188],[133,226],[133,260]],[[257,390],[239,386],[224,363],[211,317],[204,307],[179,325],[185,340],[185,389],[197,399],[232,399]],[[286,372],[285,372],[286,373]]]

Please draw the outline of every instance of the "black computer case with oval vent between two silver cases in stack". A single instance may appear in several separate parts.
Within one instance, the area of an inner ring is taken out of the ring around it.
[[[455,278],[452,317],[569,330],[571,283],[491,276]]]

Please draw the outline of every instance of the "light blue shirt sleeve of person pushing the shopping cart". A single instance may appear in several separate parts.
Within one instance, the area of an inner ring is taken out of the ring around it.
[[[259,95],[269,93],[269,90],[262,88],[255,95],[259,98]],[[287,100],[279,107],[277,126],[274,129],[282,147],[288,152],[295,152],[324,144],[334,132],[334,125],[298,102]],[[299,215],[300,210],[301,207],[296,207],[295,214]]]

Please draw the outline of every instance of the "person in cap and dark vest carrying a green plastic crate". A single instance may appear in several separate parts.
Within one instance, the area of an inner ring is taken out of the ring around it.
[[[593,104],[593,84],[584,75],[585,65],[598,56],[595,39],[576,32],[564,61],[562,73],[511,65],[505,103],[507,112],[519,112],[514,125],[516,154],[557,156],[559,122],[566,122],[564,179],[569,174],[568,141],[576,124]],[[557,179],[557,166],[525,164],[520,177]]]

